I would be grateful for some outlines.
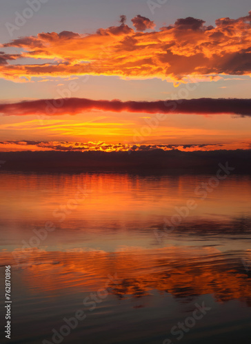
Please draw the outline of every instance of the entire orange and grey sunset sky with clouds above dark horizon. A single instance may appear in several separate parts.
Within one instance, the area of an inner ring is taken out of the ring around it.
[[[45,2],[1,6],[0,151],[251,147],[250,1]]]

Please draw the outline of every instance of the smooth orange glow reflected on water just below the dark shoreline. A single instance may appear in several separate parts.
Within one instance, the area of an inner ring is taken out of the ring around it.
[[[201,193],[195,189],[201,182],[208,182],[212,176],[139,176],[119,173],[79,173],[79,174],[36,174],[1,173],[0,174],[0,215],[1,219],[24,218],[31,222],[53,219],[53,213],[59,206],[66,206],[77,192],[88,193],[83,202],[68,211],[66,220],[84,219],[95,222],[115,222],[128,216],[131,219],[150,219],[160,215],[161,219],[173,215],[175,206],[184,206],[190,198],[201,202]],[[250,178],[229,176],[219,183],[192,215],[223,214],[234,215],[239,210],[249,209],[251,183]],[[232,202],[234,195],[234,202]],[[68,209],[69,210],[69,209]],[[57,222],[57,219],[54,219]]]

